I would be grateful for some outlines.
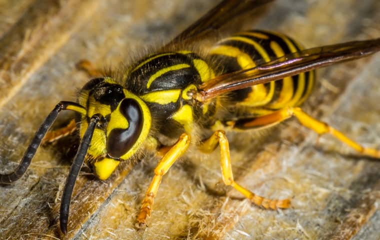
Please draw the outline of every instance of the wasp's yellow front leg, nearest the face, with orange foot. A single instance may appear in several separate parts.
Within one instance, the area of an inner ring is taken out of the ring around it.
[[[153,179],[146,191],[145,197],[141,203],[140,212],[137,215],[136,227],[146,226],[146,219],[152,211],[153,199],[157,193],[162,176],[169,170],[170,166],[181,156],[190,144],[190,135],[182,133],[178,141],[164,154],[154,169]]]

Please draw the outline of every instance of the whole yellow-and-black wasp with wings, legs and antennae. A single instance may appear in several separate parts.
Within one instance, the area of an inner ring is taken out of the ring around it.
[[[77,127],[81,140],[60,204],[60,229],[66,233],[71,194],[83,163],[104,180],[121,161],[146,150],[161,156],[136,217],[136,226],[142,227],[162,177],[190,145],[206,153],[219,146],[223,182],[252,203],[271,209],[290,206],[290,199],[269,199],[234,181],[226,131],[253,130],[295,117],[360,154],[380,157],[380,151],[360,145],[300,108],[315,85],[316,68],[373,54],[380,50],[380,38],[303,49],[284,34],[246,30],[222,38],[206,54],[178,48],[270,1],[223,0],[161,49],[126,67],[121,76],[88,81],[75,102],[60,101],[54,107],[16,169],[0,174],[0,183],[11,183],[25,173],[44,138],[54,140]],[[62,110],[79,117],[62,130],[48,132]]]

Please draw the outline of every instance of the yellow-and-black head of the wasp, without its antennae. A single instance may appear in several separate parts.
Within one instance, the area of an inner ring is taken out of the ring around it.
[[[131,157],[146,139],[151,125],[150,110],[141,98],[111,78],[90,80],[82,88],[79,102],[87,108],[80,125],[81,134],[87,128],[87,119],[94,114],[102,116],[87,155],[94,173],[106,179],[119,161]]]

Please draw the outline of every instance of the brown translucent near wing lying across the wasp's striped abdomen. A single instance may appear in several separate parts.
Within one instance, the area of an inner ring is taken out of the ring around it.
[[[222,93],[293,76],[338,62],[364,57],[380,51],[380,38],[350,41],[309,48],[286,54],[255,67],[226,73],[199,86],[204,101]]]

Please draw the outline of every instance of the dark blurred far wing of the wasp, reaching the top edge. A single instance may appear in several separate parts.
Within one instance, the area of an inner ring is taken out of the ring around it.
[[[223,0],[179,33],[174,39],[167,43],[164,48],[167,48],[176,42],[187,43],[194,39],[204,38],[210,33],[217,31],[232,18],[251,11],[270,1],[273,0]]]

